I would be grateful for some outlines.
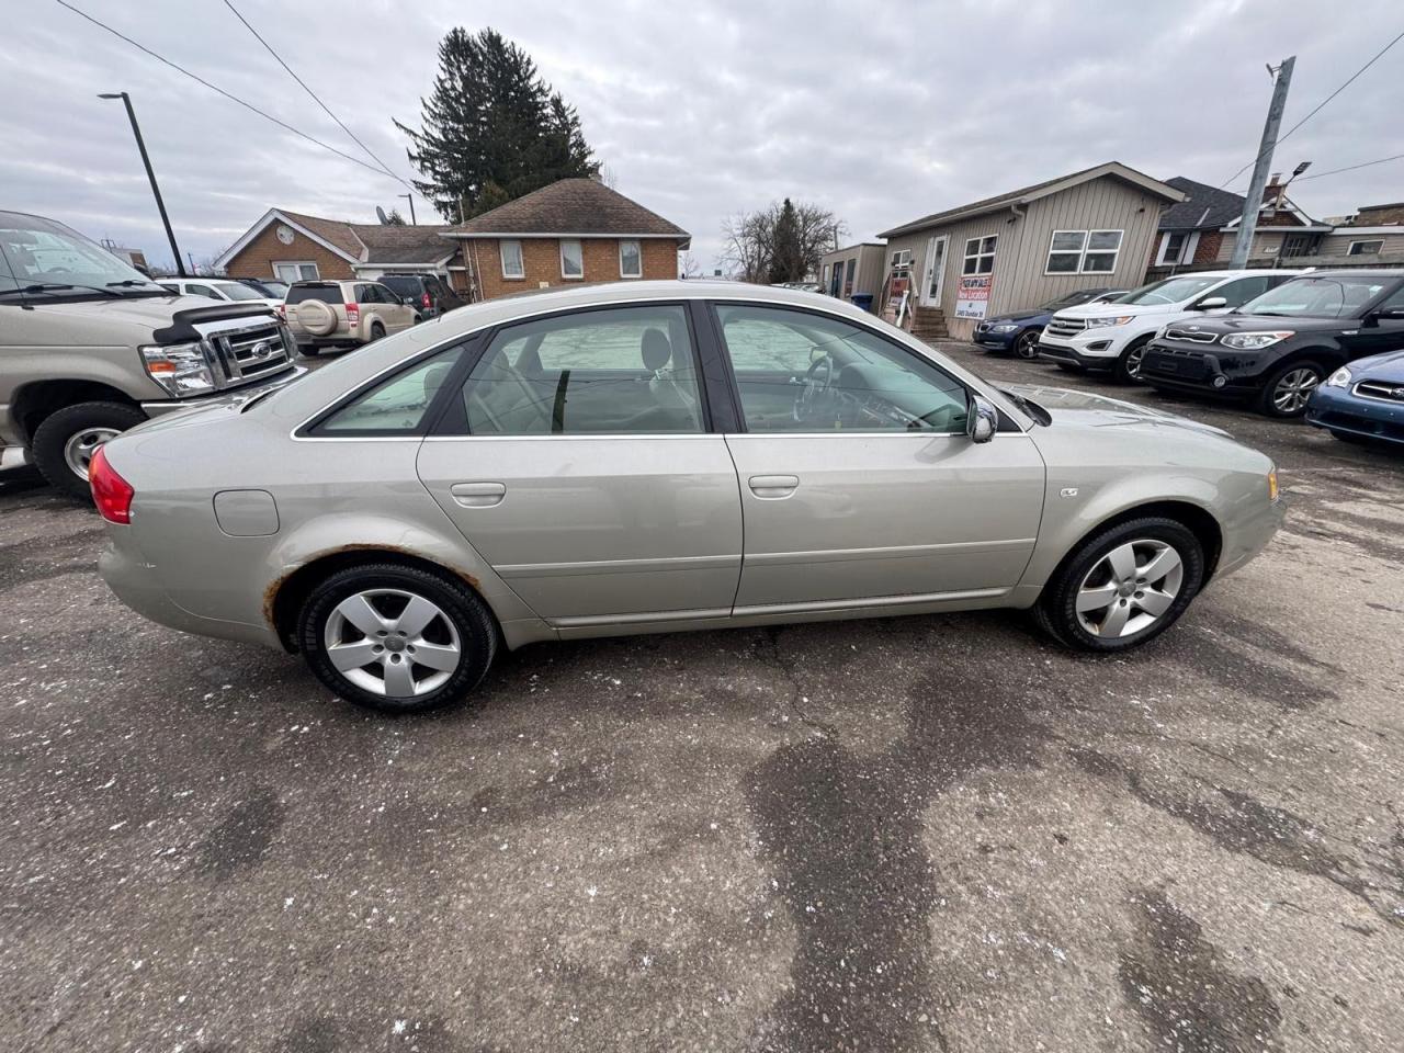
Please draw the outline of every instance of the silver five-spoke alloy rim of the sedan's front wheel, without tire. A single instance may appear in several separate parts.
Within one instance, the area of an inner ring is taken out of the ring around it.
[[[1163,541],[1118,545],[1092,564],[1077,590],[1078,625],[1108,639],[1148,629],[1174,605],[1184,576],[1184,560]]]

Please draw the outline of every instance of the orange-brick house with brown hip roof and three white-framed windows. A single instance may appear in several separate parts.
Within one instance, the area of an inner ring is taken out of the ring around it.
[[[573,282],[677,278],[678,253],[692,240],[587,178],[552,183],[444,233],[468,267],[453,271],[455,288],[473,299]]]

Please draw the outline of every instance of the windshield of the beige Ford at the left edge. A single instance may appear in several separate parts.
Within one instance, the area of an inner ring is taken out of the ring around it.
[[[0,296],[18,291],[27,296],[167,295],[77,230],[39,216],[0,212]]]

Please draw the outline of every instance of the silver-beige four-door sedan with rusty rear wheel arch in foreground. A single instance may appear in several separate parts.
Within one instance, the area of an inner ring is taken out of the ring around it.
[[[696,281],[463,307],[133,428],[91,482],[129,607],[395,712],[536,640],[1007,607],[1122,651],[1280,521],[1217,428]]]

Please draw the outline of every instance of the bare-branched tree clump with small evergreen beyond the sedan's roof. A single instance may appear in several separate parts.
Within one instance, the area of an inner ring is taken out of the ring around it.
[[[789,198],[722,225],[722,260],[748,282],[795,282],[819,274],[824,253],[838,247],[847,225],[833,212]]]

